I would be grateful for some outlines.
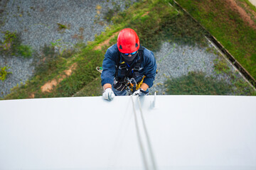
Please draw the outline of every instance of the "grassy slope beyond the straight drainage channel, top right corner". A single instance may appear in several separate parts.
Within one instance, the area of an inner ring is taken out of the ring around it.
[[[218,41],[245,67],[256,79],[256,30],[242,20],[237,11],[233,11],[222,0],[177,0],[191,13]],[[250,5],[247,0],[240,0]]]

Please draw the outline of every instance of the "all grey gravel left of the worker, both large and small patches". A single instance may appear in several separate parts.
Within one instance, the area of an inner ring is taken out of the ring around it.
[[[136,0],[132,0],[136,1]],[[93,41],[100,35],[107,23],[104,13],[114,3],[124,10],[127,1],[122,0],[2,0],[0,4],[1,31],[21,33],[24,45],[30,45],[37,52],[43,45],[60,42],[63,48],[72,48],[77,42]],[[60,30],[58,23],[68,27]],[[0,40],[4,34],[0,33]],[[0,56],[0,67],[9,66],[8,79],[0,81],[0,98],[10,89],[25,82],[33,75],[32,59]]]

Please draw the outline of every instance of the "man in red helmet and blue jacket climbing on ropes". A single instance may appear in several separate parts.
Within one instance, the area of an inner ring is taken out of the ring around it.
[[[107,49],[102,68],[102,97],[108,101],[112,101],[114,96],[125,96],[128,81],[141,84],[133,95],[148,95],[148,88],[156,77],[153,52],[139,45],[139,37],[131,28],[120,31],[117,44]]]

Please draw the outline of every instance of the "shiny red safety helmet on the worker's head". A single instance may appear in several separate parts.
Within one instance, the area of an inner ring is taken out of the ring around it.
[[[131,28],[124,28],[117,37],[119,52],[132,53],[139,50],[139,37]]]

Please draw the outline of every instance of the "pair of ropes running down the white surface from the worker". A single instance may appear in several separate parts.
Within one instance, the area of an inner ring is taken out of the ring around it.
[[[134,100],[133,100],[133,97],[132,97],[132,106],[133,106],[133,110],[134,110],[134,120],[135,120],[136,129],[137,129],[137,136],[138,136],[138,140],[139,140],[139,146],[140,146],[141,151],[142,151],[142,159],[143,159],[143,162],[144,162],[145,169],[156,170],[156,163],[155,163],[155,159],[154,159],[153,149],[151,147],[151,142],[149,140],[149,133],[146,129],[146,123],[145,123],[144,116],[143,116],[143,113],[142,113],[142,105],[139,101],[139,96],[137,97],[137,101],[139,103],[140,117],[142,118],[142,131],[144,131],[144,135],[145,135],[146,149],[149,151],[149,155],[146,155],[144,146],[142,144],[142,134],[140,133],[139,121],[138,121],[137,113],[136,113],[136,110],[135,110],[135,107],[134,107]],[[149,160],[146,159],[146,156],[149,157]],[[151,165],[150,165],[150,162],[151,162]]]

